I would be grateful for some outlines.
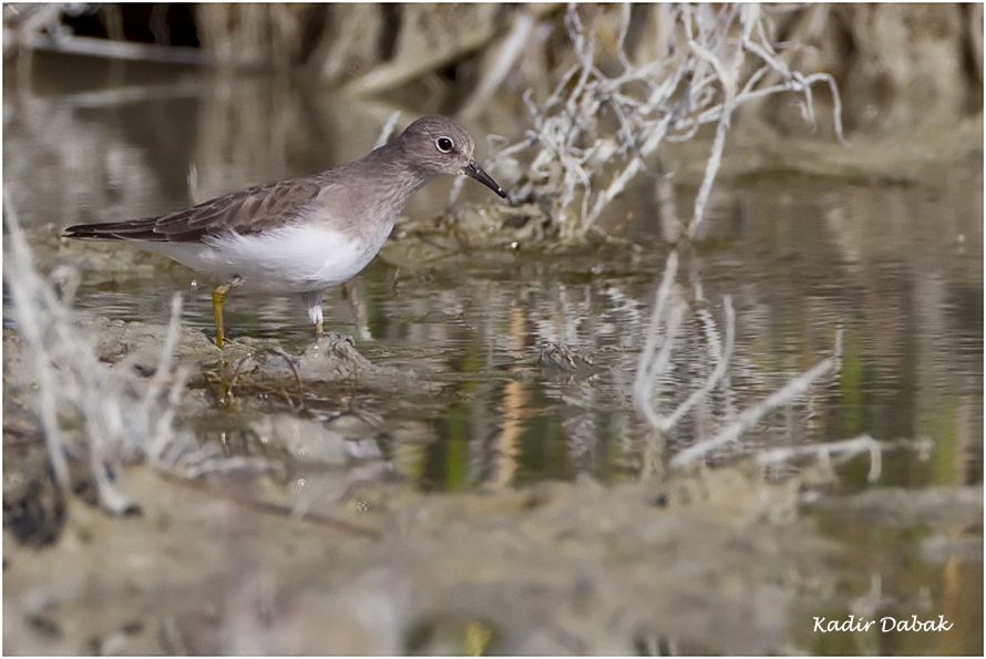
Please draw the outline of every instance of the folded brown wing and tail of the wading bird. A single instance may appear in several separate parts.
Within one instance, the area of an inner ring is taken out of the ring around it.
[[[234,231],[258,234],[290,223],[320,189],[314,178],[292,178],[229,193],[191,208],[144,219],[69,227],[69,238],[199,243]]]

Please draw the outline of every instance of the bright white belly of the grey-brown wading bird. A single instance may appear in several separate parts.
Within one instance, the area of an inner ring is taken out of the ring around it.
[[[248,236],[229,233],[204,243],[147,243],[144,247],[210,277],[240,277],[248,289],[307,292],[356,276],[383,246],[391,228],[381,227],[366,243],[340,231],[296,225]]]

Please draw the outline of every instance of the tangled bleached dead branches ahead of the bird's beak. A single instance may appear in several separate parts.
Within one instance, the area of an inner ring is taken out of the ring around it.
[[[620,9],[615,49],[620,71],[608,75],[596,64],[602,58],[595,31],[583,24],[577,7],[569,6],[565,28],[575,63],[543,102],[524,95],[533,128],[486,162],[489,169],[513,177],[507,184],[522,191],[518,197],[544,195],[556,202],[554,219],[565,239],[585,236],[630,182],[649,171],[645,159],[658,153],[664,141],[691,140],[700,126],[718,122],[688,226],[694,238],[706,215],[732,116],[749,101],[799,93],[805,120],[813,122],[811,87],[826,83],[835,133],[842,140],[842,104],[834,80],[825,73],[792,71],[777,55],[769,19],[759,6],[676,4],[656,11],[674,20],[661,22],[665,33],[656,56],[638,63],[626,52],[630,10]],[[686,48],[671,48],[676,43]],[[750,66],[753,59],[761,64]],[[747,70],[751,73],[743,75]],[[768,73],[781,82],[758,89]],[[616,117],[615,127],[600,121],[606,111]],[[528,148],[534,153],[521,167],[516,156]],[[512,185],[517,176],[520,185]]]

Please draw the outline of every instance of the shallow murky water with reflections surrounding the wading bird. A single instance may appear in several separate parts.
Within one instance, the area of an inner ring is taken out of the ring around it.
[[[76,63],[69,75],[65,65],[41,61],[33,78],[7,75],[4,83],[6,194],[39,264],[79,268],[75,306],[110,319],[164,323],[171,296],[184,290],[185,325],[209,336],[208,282],[193,289],[195,275],[166,259],[127,247],[61,243],[58,231],[184,206],[193,165],[195,196],[207,198],[357,157],[372,146],[390,112],[301,94],[286,82],[105,63]],[[404,113],[402,123],[410,119]],[[504,120],[493,123],[504,131]],[[469,198],[494,202],[474,187]],[[720,179],[706,231],[682,254],[679,276],[685,299],[708,316],[686,321],[659,383],[661,405],[674,406],[708,373],[705,332],[709,319],[721,327],[723,296],[731,296],[737,312],[730,389],[717,390],[681,424],[671,449],[715,430],[830,353],[843,328],[839,374],[768,416],[741,450],[864,433],[927,437],[932,447],[924,460],[912,452],[887,454],[876,485],[979,485],[982,189],[978,162],[894,185],[764,169]],[[446,184],[427,188],[407,215],[441,213],[446,191]],[[682,215],[691,194],[689,182],[681,182]],[[504,490],[581,474],[605,483],[637,480],[645,429],[630,391],[668,247],[646,181],[608,220],[618,224],[627,214],[636,250],[546,256],[521,245],[424,261],[410,240],[391,246],[353,282],[355,296],[328,295],[327,326],[353,336],[374,364],[411,370],[425,385],[397,393],[312,385],[309,410],[316,419],[353,409],[372,419],[383,455],[423,491]],[[7,307],[4,290],[4,329],[16,329]],[[234,291],[226,323],[234,340],[276,338],[288,352],[310,342],[304,308],[287,297]],[[551,346],[574,351],[577,368],[541,359]],[[245,404],[284,409],[273,399]],[[238,426],[235,414],[203,415],[203,436],[222,432],[223,419]],[[840,473],[838,490],[865,491],[867,470],[865,457],[854,461]],[[851,569],[838,586],[849,599],[870,596],[874,611],[947,612],[966,622],[955,634],[873,635],[864,641],[813,637],[808,622],[799,622],[792,642],[826,653],[982,649],[980,559],[922,554],[925,519],[874,531],[862,517],[816,515],[823,534],[849,547]],[[978,538],[982,528],[958,525],[943,533]],[[916,603],[915,594],[924,600]]]

